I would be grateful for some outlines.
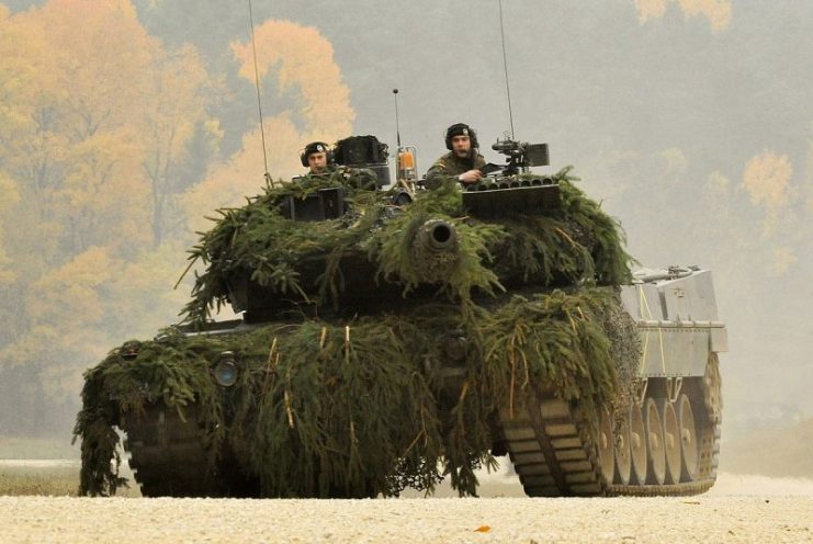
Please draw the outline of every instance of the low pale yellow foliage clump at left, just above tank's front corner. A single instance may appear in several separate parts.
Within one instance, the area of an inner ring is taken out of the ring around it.
[[[34,282],[25,293],[32,326],[0,350],[0,367],[35,362],[56,398],[76,395],[81,373],[111,345],[144,337],[177,317],[187,294],[171,285],[184,256],[165,246],[125,262],[93,247]]]

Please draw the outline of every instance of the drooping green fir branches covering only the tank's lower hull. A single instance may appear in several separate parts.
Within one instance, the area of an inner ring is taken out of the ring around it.
[[[88,372],[75,431],[81,492],[113,494],[122,483],[110,463],[116,401],[127,413],[157,400],[183,412],[197,397],[204,443],[217,452],[228,441],[263,496],[431,489],[439,461],[458,490],[474,494],[474,471],[493,461],[488,423],[499,406],[550,387],[588,407],[616,398],[619,362],[602,325],[618,304],[611,288],[596,287],[513,296],[471,316],[432,305],[346,327],[312,320],[213,338],[170,329],[144,342],[137,359],[115,350]],[[438,331],[452,330],[467,340],[465,374],[443,418]],[[210,371],[223,351],[242,365],[229,415]]]

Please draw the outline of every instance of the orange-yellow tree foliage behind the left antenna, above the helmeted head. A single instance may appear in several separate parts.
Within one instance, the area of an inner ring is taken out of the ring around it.
[[[350,90],[341,81],[334,50],[316,29],[289,21],[267,21],[255,32],[261,78],[276,76],[278,91],[296,91],[301,105],[263,120],[268,168],[274,178],[290,179],[303,171],[300,151],[313,140],[335,141],[349,136],[355,114]],[[255,81],[251,43],[232,44],[240,75]],[[303,128],[298,128],[303,127]],[[245,195],[263,185],[263,150],[259,127],[242,138],[242,149],[185,197],[194,228],[206,228],[202,215],[239,205]]]

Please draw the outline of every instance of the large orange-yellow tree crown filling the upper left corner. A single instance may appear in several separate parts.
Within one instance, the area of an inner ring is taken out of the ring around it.
[[[8,251],[45,256],[27,260],[37,274],[94,245],[159,243],[178,223],[178,165],[208,121],[194,48],[165,50],[128,0],[50,0],[0,27],[13,36],[0,34],[0,163],[33,217],[8,218],[27,222]]]

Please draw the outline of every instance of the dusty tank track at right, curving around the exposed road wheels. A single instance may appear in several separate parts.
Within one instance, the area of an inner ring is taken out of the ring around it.
[[[709,374],[716,370],[716,355],[710,360],[709,369]],[[509,408],[499,411],[505,445],[526,494],[530,497],[599,497],[686,496],[707,491],[716,478],[720,451],[720,412],[715,415],[710,406],[720,398],[719,373],[713,383],[708,377],[687,378],[687,382],[684,387],[695,411],[699,442],[693,479],[659,485],[608,480],[600,467],[594,426],[586,424],[575,406],[551,392],[527,398],[524,406],[517,407],[513,413]]]

